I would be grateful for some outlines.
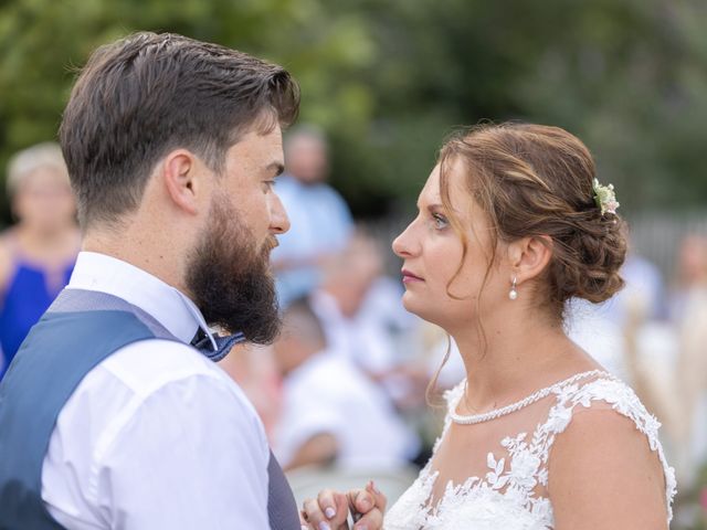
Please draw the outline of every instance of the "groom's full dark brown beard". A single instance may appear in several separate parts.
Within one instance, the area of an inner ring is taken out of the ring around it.
[[[209,326],[242,331],[246,340],[271,343],[279,331],[275,280],[270,271],[267,240],[257,248],[228,198],[211,204],[203,240],[187,265],[187,289]]]

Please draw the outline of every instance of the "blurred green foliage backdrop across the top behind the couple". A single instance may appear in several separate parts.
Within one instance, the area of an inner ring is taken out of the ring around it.
[[[173,31],[293,72],[360,214],[410,209],[455,126],[509,118],[585,140],[624,211],[704,205],[705,14],[698,0],[6,0],[0,166],[55,137],[92,50]]]

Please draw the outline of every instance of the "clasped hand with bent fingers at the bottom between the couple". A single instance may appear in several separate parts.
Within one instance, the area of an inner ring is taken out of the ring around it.
[[[349,511],[354,530],[380,530],[388,499],[373,481],[348,494],[324,489],[316,499],[307,499],[302,510],[302,529],[349,530]]]

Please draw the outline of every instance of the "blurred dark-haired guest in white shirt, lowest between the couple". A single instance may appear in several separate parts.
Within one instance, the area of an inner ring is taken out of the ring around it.
[[[306,299],[284,312],[275,359],[284,378],[273,451],[285,469],[336,463],[386,468],[414,456],[408,428],[384,393],[327,342]]]

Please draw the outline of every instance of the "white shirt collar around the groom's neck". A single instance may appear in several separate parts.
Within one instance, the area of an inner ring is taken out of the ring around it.
[[[182,342],[189,343],[199,328],[217,343],[199,308],[180,290],[141,268],[106,254],[81,252],[66,286],[117,296],[155,317]]]

